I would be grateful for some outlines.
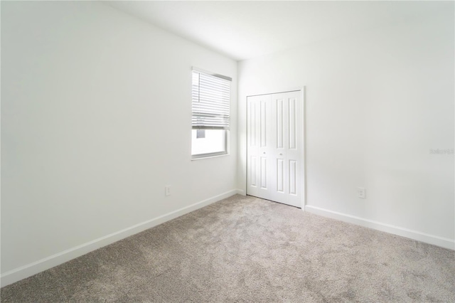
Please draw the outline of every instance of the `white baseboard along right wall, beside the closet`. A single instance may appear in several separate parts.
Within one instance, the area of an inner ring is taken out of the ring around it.
[[[390,225],[386,223],[380,223],[378,221],[368,220],[356,216],[350,216],[346,213],[338,213],[336,211],[329,211],[328,209],[319,208],[316,206],[306,205],[305,211],[314,213],[319,216],[333,218],[348,223],[353,223],[375,230],[384,231],[385,233],[392,233],[394,235],[400,235],[402,237],[410,238],[424,243],[440,246],[441,248],[449,248],[455,250],[455,240],[449,238],[442,238],[437,235],[429,235],[427,233],[420,233],[416,230],[410,230],[407,228],[401,228],[399,226]]]

